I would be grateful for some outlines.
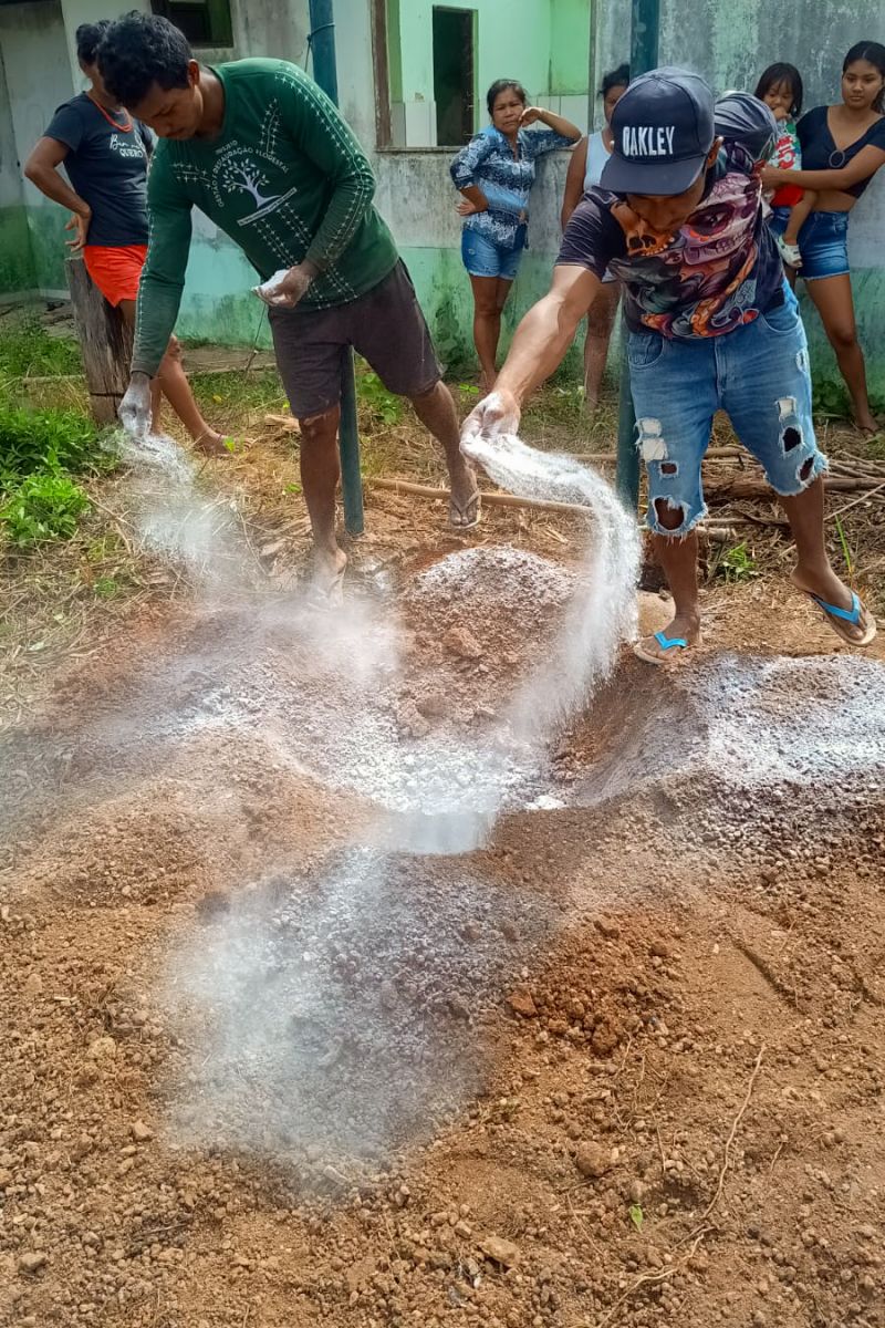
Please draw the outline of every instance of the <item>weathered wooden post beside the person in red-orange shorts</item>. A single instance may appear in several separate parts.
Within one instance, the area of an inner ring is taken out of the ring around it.
[[[65,270],[93,418],[97,424],[114,424],[117,408],[129,384],[131,332],[119,309],[111,308],[93,286],[80,255],[66,259]]]

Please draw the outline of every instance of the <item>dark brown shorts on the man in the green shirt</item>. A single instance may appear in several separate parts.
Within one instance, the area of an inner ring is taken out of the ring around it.
[[[297,420],[325,414],[341,400],[348,347],[378,374],[387,392],[421,397],[442,368],[402,259],[365,295],[330,309],[269,309],[277,368]]]

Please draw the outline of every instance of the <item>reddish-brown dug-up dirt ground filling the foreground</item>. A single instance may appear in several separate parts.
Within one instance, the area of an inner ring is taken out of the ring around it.
[[[482,732],[552,611],[415,607],[415,576],[475,540],[394,495],[369,529],[356,580],[383,572],[405,606],[397,704]],[[476,542],[580,544],[492,511]],[[698,669],[848,653],[770,575],[706,598]],[[512,810],[463,858],[383,858],[368,902],[357,866],[342,902],[330,863],[374,851],[377,809],[292,757],[297,706],[226,726],[248,673],[212,643],[248,656],[241,615],[182,598],[97,623],[96,653],[48,668],[7,733],[0,1321],[885,1324],[881,770],[740,788],[693,769],[691,671],[625,657],[553,753],[565,806]],[[450,623],[482,653],[446,645]],[[261,651],[261,696],[281,677],[326,695],[285,633]],[[454,709],[426,704],[441,677]],[[158,728],[191,701],[199,724]],[[612,795],[572,797],[606,761]],[[226,1024],[226,947],[253,935]],[[293,1077],[277,1046],[255,1086],[207,1028],[249,1044],[308,954],[326,1023],[316,1045],[287,1025]]]

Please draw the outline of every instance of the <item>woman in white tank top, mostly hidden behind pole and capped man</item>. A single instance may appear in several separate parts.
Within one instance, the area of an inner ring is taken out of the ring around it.
[[[605,166],[612,153],[612,112],[626,92],[630,81],[628,65],[620,65],[612,73],[605,74],[600,96],[605,112],[605,126],[601,130],[582,138],[572,153],[565,178],[565,194],[563,198],[563,230],[568,226],[569,218],[581,197],[598,185]],[[609,341],[612,328],[617,315],[621,287],[616,278],[605,274],[602,290],[590,305],[586,315],[586,341],[584,343],[584,388],[586,404],[590,410],[600,400],[600,386],[605,373],[605,363],[609,355]]]

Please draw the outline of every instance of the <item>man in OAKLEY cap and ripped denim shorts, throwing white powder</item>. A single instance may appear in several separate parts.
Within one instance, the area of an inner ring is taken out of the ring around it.
[[[630,84],[612,117],[601,186],[572,214],[551,291],[523,319],[495,390],[462,430],[462,442],[516,432],[523,400],[556,369],[610,268],[624,290],[647,522],[675,606],[673,622],[636,647],[651,664],[701,639],[695,526],[719,409],[787,513],[795,586],[843,640],[868,645],[876,635],[827,558],[827,459],[815,440],[805,333],[762,211],[759,171],[776,133],[763,102],[730,93],[714,106],[705,81],[682,69]]]

